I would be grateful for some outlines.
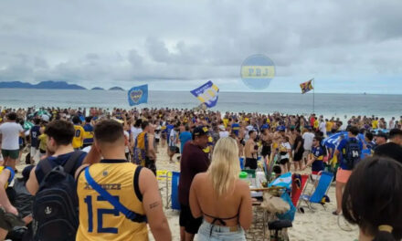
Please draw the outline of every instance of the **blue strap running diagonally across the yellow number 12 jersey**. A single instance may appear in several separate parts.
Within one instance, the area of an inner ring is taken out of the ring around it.
[[[127,219],[132,220],[132,222],[136,223],[146,223],[146,215],[140,215],[132,212],[129,210],[127,207],[125,207],[122,203],[120,203],[114,196],[109,194],[108,191],[104,190],[100,184],[96,183],[95,180],[90,176],[90,168],[87,167],[85,169],[85,179],[87,182],[90,184],[90,186],[98,193],[100,196],[102,196],[104,199],[106,199],[111,205],[114,206],[120,213],[125,215]]]

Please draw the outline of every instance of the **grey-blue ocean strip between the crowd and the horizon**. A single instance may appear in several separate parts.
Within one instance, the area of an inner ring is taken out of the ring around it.
[[[402,95],[316,93],[314,99],[314,112],[325,117],[402,116]],[[191,109],[199,104],[190,91],[149,91],[148,103],[137,107]],[[131,109],[127,92],[118,90],[0,89],[0,106]],[[307,114],[312,113],[312,93],[219,92],[212,110]]]

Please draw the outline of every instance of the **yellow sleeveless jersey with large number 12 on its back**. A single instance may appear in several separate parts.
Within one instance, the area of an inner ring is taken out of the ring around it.
[[[102,160],[91,165],[90,176],[109,194],[132,212],[145,215],[138,184],[139,167],[126,160]],[[138,171],[137,171],[138,170]],[[137,171],[137,172],[136,172]],[[135,186],[134,186],[135,185]],[[148,240],[146,223],[136,223],[119,213],[87,183],[85,171],[80,173],[79,230],[76,240]]]

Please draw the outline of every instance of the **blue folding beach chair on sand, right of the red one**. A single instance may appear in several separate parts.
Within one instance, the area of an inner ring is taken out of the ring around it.
[[[304,194],[303,192],[300,197],[300,201],[306,203],[310,210],[313,210],[312,204],[322,204],[323,208],[326,210],[325,202],[323,202],[323,197],[328,193],[332,182],[333,173],[322,172],[320,180],[318,181],[317,187],[315,188],[314,192],[312,194]],[[302,202],[299,202],[298,209],[300,208]]]

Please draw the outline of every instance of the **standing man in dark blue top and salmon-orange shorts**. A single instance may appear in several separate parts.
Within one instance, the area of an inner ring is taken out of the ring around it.
[[[333,154],[333,156],[340,154],[338,157],[340,165],[336,173],[336,210],[333,211],[333,215],[341,214],[344,186],[352,174],[354,166],[360,162],[363,143],[357,139],[358,134],[359,129],[355,126],[351,126],[348,130],[348,138],[344,138],[339,142],[339,145]]]

